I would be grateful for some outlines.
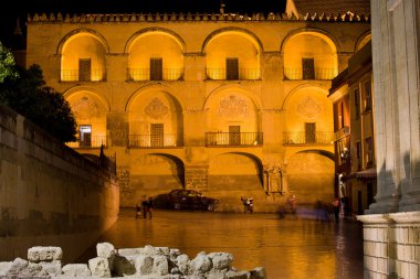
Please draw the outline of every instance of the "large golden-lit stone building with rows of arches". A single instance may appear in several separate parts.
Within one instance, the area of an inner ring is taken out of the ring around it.
[[[32,14],[27,65],[70,101],[80,133],[69,146],[116,157],[122,206],[177,187],[223,211],[241,210],[243,195],[255,211],[290,194],[329,202],[328,88],[370,21],[298,10]]]

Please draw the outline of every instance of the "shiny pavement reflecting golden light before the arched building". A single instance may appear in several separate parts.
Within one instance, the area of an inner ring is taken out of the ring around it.
[[[265,267],[269,279],[358,279],[363,278],[361,239],[361,225],[355,221],[166,211],[155,211],[153,219],[135,219],[134,210],[122,210],[98,242],[116,248],[179,248],[190,258],[199,251],[228,251],[234,257],[233,267]],[[93,257],[95,247],[78,261]]]

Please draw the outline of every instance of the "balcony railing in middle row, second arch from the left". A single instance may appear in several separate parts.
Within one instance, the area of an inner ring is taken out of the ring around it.
[[[129,135],[130,148],[175,148],[182,147],[177,135]]]

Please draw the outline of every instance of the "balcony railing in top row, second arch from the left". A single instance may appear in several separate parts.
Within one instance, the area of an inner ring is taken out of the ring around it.
[[[150,68],[127,68],[127,81],[145,82],[145,81],[182,81],[183,68],[162,68],[150,74]]]

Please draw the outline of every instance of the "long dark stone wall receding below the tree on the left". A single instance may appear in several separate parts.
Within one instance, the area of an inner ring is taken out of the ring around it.
[[[64,261],[82,255],[119,208],[115,175],[101,165],[0,106],[0,260],[34,245],[63,247]]]

